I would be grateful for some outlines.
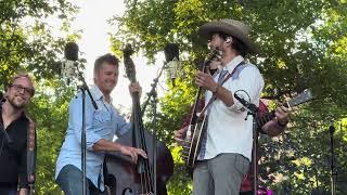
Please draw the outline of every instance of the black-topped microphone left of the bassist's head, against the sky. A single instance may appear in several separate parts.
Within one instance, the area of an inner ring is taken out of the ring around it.
[[[62,76],[69,84],[73,78],[77,77],[78,46],[75,42],[66,43],[64,48],[65,62],[63,63]]]

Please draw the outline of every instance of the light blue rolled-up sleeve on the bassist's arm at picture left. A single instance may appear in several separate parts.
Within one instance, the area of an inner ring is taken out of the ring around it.
[[[102,139],[102,136],[98,133],[95,133],[95,129],[93,128],[93,118],[94,118],[94,107],[91,103],[90,98],[86,96],[86,140],[87,140],[87,150],[92,151],[92,146],[94,143],[97,143],[99,140]],[[73,133],[76,136],[76,140],[79,144],[81,144],[81,129],[82,129],[82,99],[81,95],[77,95],[76,99],[74,99],[70,102],[69,105],[69,130],[73,131]]]

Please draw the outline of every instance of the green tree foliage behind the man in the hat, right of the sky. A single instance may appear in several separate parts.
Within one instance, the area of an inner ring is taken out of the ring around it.
[[[294,113],[285,133],[264,142],[264,183],[279,191],[291,188],[295,194],[329,190],[326,130],[330,125],[337,127],[337,121],[346,117],[346,1],[126,0],[126,4],[125,15],[113,18],[120,23],[119,31],[113,35],[115,48],[128,41],[153,61],[154,54],[166,43],[176,42],[183,54],[176,87],[159,100],[157,126],[163,140],[174,144],[174,131],[181,126],[194,100],[193,64],[206,55],[206,43],[198,39],[197,28],[207,21],[240,20],[250,26],[253,39],[261,49],[249,60],[264,75],[262,95],[281,101],[310,88],[316,98]],[[335,136],[340,169],[338,193],[342,194],[347,192],[343,188],[347,174],[346,153],[343,152],[346,151],[345,134],[346,128],[342,128]],[[178,155],[175,150],[172,153]],[[176,166],[179,170],[182,164],[176,161]],[[190,193],[189,187],[180,185],[184,177],[182,171],[175,174],[170,194]]]

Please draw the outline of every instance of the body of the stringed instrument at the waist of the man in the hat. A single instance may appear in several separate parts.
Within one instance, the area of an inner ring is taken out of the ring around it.
[[[196,158],[201,150],[201,142],[203,134],[207,133],[207,115],[204,116],[202,121],[198,121],[195,125],[191,125],[188,131],[191,131],[191,135],[187,135],[185,143],[187,146],[183,147],[183,154],[185,158],[185,165],[189,168],[194,168]],[[189,145],[189,146],[188,146]]]

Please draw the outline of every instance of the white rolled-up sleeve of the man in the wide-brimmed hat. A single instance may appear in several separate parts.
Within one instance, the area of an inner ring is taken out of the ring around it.
[[[264,79],[259,69],[255,65],[244,67],[237,78],[228,81],[227,89],[231,91],[234,104],[228,109],[235,112],[242,110],[244,107],[235,98],[234,93],[245,99],[253,104],[259,105],[260,93],[264,88]]]

